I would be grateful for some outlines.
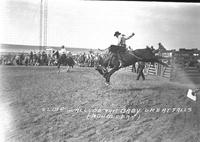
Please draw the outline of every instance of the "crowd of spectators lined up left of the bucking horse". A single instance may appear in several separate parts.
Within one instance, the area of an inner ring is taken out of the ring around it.
[[[15,53],[0,55],[0,65],[25,65],[25,66],[56,66],[57,57],[54,56],[56,50],[48,51],[30,51],[29,53]],[[99,53],[88,52],[72,54],[68,52],[77,65],[81,67],[94,67],[100,56]]]

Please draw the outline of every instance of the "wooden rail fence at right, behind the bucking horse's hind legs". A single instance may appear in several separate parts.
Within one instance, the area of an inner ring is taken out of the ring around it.
[[[187,58],[183,58],[182,54],[179,52],[169,51],[166,53],[160,53],[159,56],[163,57],[163,62],[169,64],[168,67],[164,67],[158,63],[155,64],[146,64],[146,68],[144,69],[145,75],[154,75],[160,76],[169,80],[177,80],[181,78],[181,73],[188,78],[196,78],[200,80],[200,65],[198,67],[185,67],[185,62],[190,62],[193,60],[187,60]],[[200,60],[200,56],[199,56]],[[126,68],[126,70],[133,71],[132,66]]]

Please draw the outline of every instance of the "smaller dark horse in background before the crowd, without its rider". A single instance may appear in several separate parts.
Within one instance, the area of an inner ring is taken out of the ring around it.
[[[66,54],[62,54],[60,55],[58,51],[56,51],[54,54],[53,54],[53,57],[57,58],[57,67],[59,69],[59,72],[60,72],[60,66],[63,65],[63,66],[68,66],[68,69],[67,71],[69,71],[69,67],[73,68],[74,65],[75,65],[75,62],[73,60],[73,58],[71,56],[67,56]]]

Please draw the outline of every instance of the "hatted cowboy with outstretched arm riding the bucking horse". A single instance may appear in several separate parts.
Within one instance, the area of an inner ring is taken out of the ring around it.
[[[121,34],[119,31],[116,31],[114,36],[116,38],[118,38],[118,46],[121,46],[122,48],[126,49],[126,40],[130,39],[131,37],[133,37],[135,34],[132,33],[130,36],[126,37],[124,34]],[[120,53],[118,52],[117,53],[117,56],[118,56],[118,59],[119,59],[119,62],[120,62],[120,65],[119,67],[123,67],[123,61],[122,61],[122,58],[120,56]]]

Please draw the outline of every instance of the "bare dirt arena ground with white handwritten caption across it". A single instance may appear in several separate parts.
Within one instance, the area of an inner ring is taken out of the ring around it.
[[[0,136],[6,142],[200,142],[189,83],[120,70],[111,86],[94,68],[1,66]],[[1,141],[1,140],[0,140]]]

